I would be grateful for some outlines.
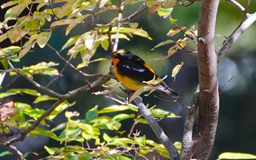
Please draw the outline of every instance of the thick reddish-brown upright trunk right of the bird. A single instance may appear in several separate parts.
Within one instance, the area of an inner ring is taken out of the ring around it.
[[[214,145],[219,116],[217,55],[214,49],[214,30],[218,0],[203,0],[198,26],[199,115],[197,159],[208,159]]]

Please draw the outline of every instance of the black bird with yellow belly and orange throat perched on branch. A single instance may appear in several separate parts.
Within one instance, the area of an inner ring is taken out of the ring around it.
[[[151,80],[159,81],[151,87],[162,91],[166,94],[178,96],[176,91],[168,87],[164,81],[157,75],[156,72],[143,61],[142,58],[129,52],[128,50],[119,49],[113,52],[110,56],[116,79],[130,90],[137,91],[143,86],[151,85],[146,83]]]

